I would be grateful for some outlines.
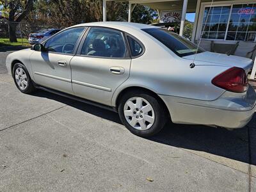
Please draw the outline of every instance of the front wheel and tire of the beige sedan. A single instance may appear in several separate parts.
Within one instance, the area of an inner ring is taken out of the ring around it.
[[[20,92],[27,94],[35,92],[36,88],[33,81],[29,76],[28,70],[22,63],[14,64],[12,74],[14,83]]]

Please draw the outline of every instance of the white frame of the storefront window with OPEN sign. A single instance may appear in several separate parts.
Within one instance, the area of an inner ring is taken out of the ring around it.
[[[228,16],[228,22],[227,22],[227,29],[225,31],[225,38],[224,39],[212,39],[212,38],[202,38],[202,40],[209,40],[209,41],[218,41],[218,42],[230,42],[230,43],[236,43],[236,42],[248,42],[248,43],[255,43],[256,42],[256,35],[255,35],[255,40],[254,41],[243,41],[243,40],[226,40],[227,38],[227,33],[228,33],[228,26],[230,24],[230,17],[232,13],[232,8],[235,4],[256,4],[255,1],[248,0],[248,1],[216,1],[212,4],[212,7],[214,6],[230,6],[230,13]],[[201,8],[199,12],[199,17],[198,17],[198,28],[196,29],[196,40],[199,40],[202,36],[202,28],[203,28],[203,20],[204,20],[204,12],[205,8],[210,7],[211,2],[204,2],[201,3]],[[250,32],[250,31],[249,31]],[[256,32],[255,32],[256,33]]]

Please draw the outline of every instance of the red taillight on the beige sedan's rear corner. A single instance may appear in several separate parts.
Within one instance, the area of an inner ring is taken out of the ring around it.
[[[243,68],[232,67],[214,77],[212,84],[229,92],[243,93],[248,88],[248,79]]]

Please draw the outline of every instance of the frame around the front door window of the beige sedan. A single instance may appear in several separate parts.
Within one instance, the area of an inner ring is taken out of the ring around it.
[[[71,28],[67,28],[67,29],[63,29],[61,31],[59,31],[58,33],[55,33],[54,35],[50,36],[49,38],[47,38],[47,40],[45,40],[44,42],[42,42],[42,45],[45,46],[45,44],[51,40],[51,38],[53,38],[54,36],[56,35],[59,35],[60,33],[64,32],[64,31],[67,31],[68,29],[75,29],[75,28],[84,28],[81,35],[79,36],[79,38],[77,39],[76,41],[76,45],[74,47],[74,51],[73,53],[65,53],[65,52],[54,52],[54,51],[44,51],[44,52],[49,52],[49,53],[54,53],[54,54],[63,54],[63,55],[70,55],[70,56],[75,56],[76,55],[76,52],[77,52],[77,49],[81,43],[81,39],[83,38],[83,35],[84,33],[86,33],[86,31],[88,30],[88,27],[87,26],[76,26],[76,27],[71,27]]]

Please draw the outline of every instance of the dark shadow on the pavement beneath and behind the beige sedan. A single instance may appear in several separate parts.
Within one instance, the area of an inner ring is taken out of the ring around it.
[[[56,100],[86,113],[122,124],[118,113],[106,109],[97,108],[42,90],[38,90],[38,92],[33,95]],[[207,152],[209,154],[256,165],[256,154],[253,152],[256,151],[255,125],[256,115],[253,116],[248,126],[243,129],[235,129],[234,131],[204,125],[180,125],[169,122],[159,134],[147,139],[163,143],[164,145]],[[248,136],[248,132],[250,132],[250,137]],[[250,156],[252,157],[250,158]]]

